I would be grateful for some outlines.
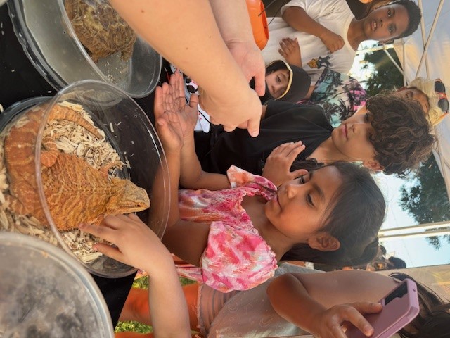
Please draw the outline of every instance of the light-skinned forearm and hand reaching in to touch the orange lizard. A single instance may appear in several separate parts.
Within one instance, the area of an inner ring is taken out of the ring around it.
[[[114,243],[94,249],[148,273],[150,313],[155,337],[191,337],[188,308],[171,254],[136,215],[107,216],[100,226],[80,225],[82,231]]]

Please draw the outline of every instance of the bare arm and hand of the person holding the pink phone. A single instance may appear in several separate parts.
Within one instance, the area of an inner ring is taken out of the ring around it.
[[[358,270],[285,273],[271,282],[267,294],[275,311],[291,323],[316,337],[344,338],[345,322],[370,336],[373,328],[361,313],[381,311],[375,302],[395,285],[390,277]]]

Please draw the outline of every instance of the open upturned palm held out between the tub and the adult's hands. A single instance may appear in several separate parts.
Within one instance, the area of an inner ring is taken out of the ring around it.
[[[156,130],[165,151],[179,151],[184,139],[191,136],[197,121],[197,106],[197,95],[192,95],[186,104],[183,77],[179,72],[170,76],[169,83],[156,88]]]

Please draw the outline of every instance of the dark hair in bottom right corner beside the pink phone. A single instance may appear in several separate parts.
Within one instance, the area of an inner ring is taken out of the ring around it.
[[[390,277],[414,280],[405,273],[392,273]],[[414,282],[417,284],[420,313],[409,325],[413,330],[401,329],[397,333],[402,338],[450,338],[450,303],[444,303],[431,289],[416,280]]]

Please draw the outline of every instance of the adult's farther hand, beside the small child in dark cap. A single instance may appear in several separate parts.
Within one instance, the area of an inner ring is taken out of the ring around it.
[[[242,69],[247,82],[255,77],[255,92],[259,96],[263,96],[266,92],[266,67],[258,46],[253,40],[250,42],[226,42],[226,46]]]

